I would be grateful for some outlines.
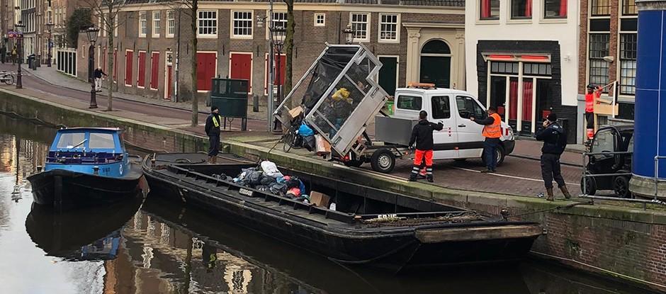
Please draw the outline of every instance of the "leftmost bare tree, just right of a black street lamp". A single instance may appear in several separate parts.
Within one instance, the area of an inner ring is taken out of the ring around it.
[[[116,58],[116,56],[114,56],[115,48],[113,46],[113,38],[115,37],[115,30],[124,24],[124,21],[119,21],[118,16],[120,9],[123,9],[123,7],[127,5],[127,2],[125,0],[84,0],[84,2],[93,9],[100,21],[100,31],[107,35],[106,54],[108,55],[108,58],[106,62],[106,72],[111,74],[111,79],[107,79],[108,103],[106,104],[106,111],[112,111],[113,77],[117,75],[117,73],[115,73],[115,67],[113,67]]]

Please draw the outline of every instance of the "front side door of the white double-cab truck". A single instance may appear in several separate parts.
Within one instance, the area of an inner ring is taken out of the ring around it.
[[[481,157],[483,152],[483,140],[481,135],[483,126],[470,120],[484,119],[487,117],[485,110],[477,101],[469,96],[456,96],[456,107],[458,108],[458,149],[459,157],[475,158]]]

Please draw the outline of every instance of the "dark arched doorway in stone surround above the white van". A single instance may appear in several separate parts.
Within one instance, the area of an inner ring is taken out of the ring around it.
[[[451,84],[451,48],[442,40],[429,40],[421,49],[419,81],[448,88]]]

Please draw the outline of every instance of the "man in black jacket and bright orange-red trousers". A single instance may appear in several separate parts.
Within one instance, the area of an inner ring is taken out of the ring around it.
[[[419,174],[420,166],[425,158],[426,161],[426,178],[432,183],[432,149],[434,142],[432,140],[432,132],[434,130],[441,130],[444,128],[442,123],[434,124],[428,120],[428,113],[421,111],[419,113],[419,123],[414,125],[412,130],[412,139],[410,139],[410,149],[414,149],[412,145],[416,142],[416,151],[414,152],[414,166],[412,167],[412,174],[410,174],[410,181],[416,181]]]

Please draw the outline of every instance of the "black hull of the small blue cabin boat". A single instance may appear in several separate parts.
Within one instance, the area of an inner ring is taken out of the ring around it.
[[[69,209],[108,205],[137,196],[141,190],[141,177],[139,172],[123,178],[112,178],[52,169],[29,176],[28,181],[33,189],[35,203]]]

